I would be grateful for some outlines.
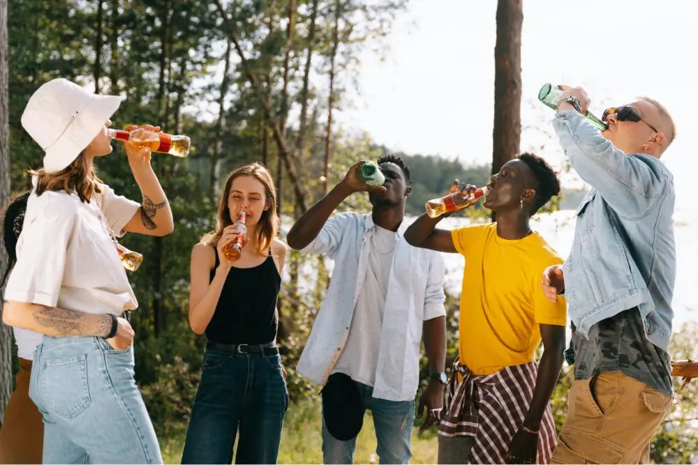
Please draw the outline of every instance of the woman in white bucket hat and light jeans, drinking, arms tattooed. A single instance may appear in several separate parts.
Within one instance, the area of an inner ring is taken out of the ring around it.
[[[148,148],[126,144],[142,204],[96,175],[93,160],[112,151],[107,128],[121,100],[53,79],[22,114],[45,156],[32,172],[3,321],[14,327],[19,356],[34,359],[29,396],[45,423],[44,463],[162,463],[133,379],[134,334],[121,315],[138,302],[114,236],[163,236],[174,225]]]

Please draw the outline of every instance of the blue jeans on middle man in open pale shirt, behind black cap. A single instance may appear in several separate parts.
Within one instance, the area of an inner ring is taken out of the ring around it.
[[[373,413],[373,427],[378,442],[378,460],[381,464],[407,464],[412,457],[412,424],[415,420],[415,401],[395,402],[374,399],[373,388],[356,383],[362,404]],[[322,458],[325,464],[352,464],[356,438],[339,441],[329,434],[322,418]]]

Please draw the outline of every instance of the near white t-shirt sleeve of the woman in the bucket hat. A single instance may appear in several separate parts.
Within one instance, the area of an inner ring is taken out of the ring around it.
[[[77,221],[76,211],[46,208],[43,215],[24,222],[5,300],[56,306]]]

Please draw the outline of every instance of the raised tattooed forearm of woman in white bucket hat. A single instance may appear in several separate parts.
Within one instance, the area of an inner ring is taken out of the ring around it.
[[[127,130],[135,129],[129,126]],[[160,130],[158,127],[143,125],[141,128]],[[170,203],[165,191],[158,181],[151,166],[151,151],[149,148],[138,148],[133,144],[124,144],[128,165],[133,171],[133,178],[140,188],[143,201],[133,218],[128,221],[124,231],[145,234],[147,236],[167,236],[174,231],[174,220]],[[119,234],[119,231],[114,231]]]

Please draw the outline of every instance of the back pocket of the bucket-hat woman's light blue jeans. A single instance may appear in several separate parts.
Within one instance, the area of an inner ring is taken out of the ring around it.
[[[92,399],[87,383],[87,356],[84,353],[46,360],[40,376],[41,397],[52,415],[72,420],[90,406]]]

